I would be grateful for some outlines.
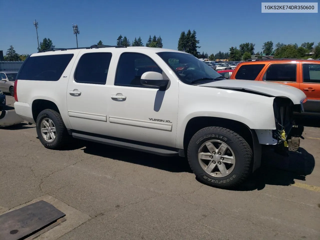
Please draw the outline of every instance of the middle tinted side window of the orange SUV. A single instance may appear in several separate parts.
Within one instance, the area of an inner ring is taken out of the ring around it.
[[[272,64],[263,76],[264,81],[296,82],[297,64]]]

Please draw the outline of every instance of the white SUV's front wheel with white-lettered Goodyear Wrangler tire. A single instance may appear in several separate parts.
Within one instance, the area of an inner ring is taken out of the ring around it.
[[[188,144],[187,156],[191,170],[200,182],[226,189],[235,188],[246,180],[253,164],[252,149],[247,141],[222,127],[206,127],[196,132]]]

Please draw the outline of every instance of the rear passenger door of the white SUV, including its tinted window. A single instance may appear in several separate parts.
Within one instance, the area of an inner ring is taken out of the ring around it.
[[[108,69],[112,53],[80,52],[67,88],[68,117],[73,130],[105,134]]]

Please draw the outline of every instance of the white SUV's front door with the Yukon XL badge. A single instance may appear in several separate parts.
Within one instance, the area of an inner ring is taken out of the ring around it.
[[[121,54],[115,81],[109,83],[108,135],[175,147],[178,80],[170,79],[166,91],[143,86],[140,79],[145,72],[159,72],[167,79],[170,75],[163,71],[168,69],[164,61],[156,54],[152,57],[154,60],[141,53]]]

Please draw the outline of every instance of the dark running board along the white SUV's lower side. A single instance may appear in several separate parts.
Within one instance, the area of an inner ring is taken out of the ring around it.
[[[128,148],[128,149],[137,150],[141,152],[153,153],[160,156],[179,156],[179,153],[180,153],[180,150],[178,149],[177,151],[172,151],[172,150],[167,150],[162,148],[153,148],[153,147],[142,146],[134,143],[128,143],[128,142],[90,136],[90,135],[76,133],[76,132],[72,132],[72,137],[81,139],[81,140],[87,140],[87,141],[98,142],[98,143],[111,145],[115,147],[120,147],[120,148]],[[180,153],[180,156],[181,154],[182,153]]]

